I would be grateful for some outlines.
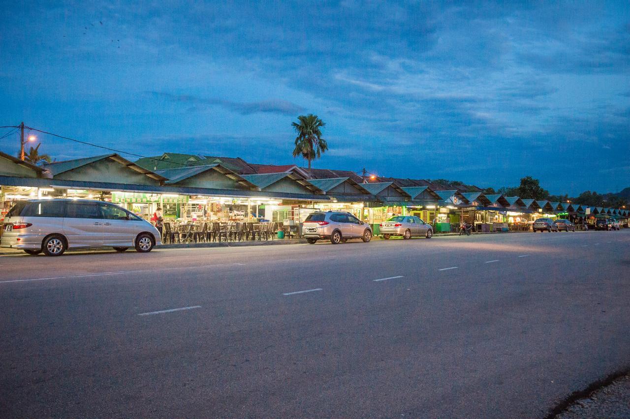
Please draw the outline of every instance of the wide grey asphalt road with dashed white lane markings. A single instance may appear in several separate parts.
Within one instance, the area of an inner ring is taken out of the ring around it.
[[[630,366],[629,249],[624,230],[0,256],[0,416],[542,417]]]

